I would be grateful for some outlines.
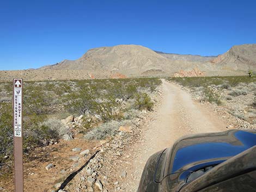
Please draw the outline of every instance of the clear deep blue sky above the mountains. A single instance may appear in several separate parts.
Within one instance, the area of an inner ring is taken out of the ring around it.
[[[255,10],[254,0],[1,1],[0,70],[37,68],[118,44],[217,55],[256,43]]]

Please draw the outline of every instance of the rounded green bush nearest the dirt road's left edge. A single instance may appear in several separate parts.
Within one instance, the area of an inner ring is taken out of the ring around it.
[[[134,107],[136,109],[152,110],[153,106],[154,106],[154,103],[151,101],[151,98],[147,93],[139,92],[138,94],[136,94],[135,103],[134,103]]]

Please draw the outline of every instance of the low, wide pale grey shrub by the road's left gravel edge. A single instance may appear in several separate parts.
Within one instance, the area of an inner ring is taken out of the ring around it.
[[[117,131],[121,125],[123,125],[123,123],[114,120],[103,123],[102,125],[94,128],[92,131],[89,131],[84,138],[100,140],[113,136],[117,134]]]

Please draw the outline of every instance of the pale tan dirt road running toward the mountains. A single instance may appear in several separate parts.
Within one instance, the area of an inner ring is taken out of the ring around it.
[[[154,115],[155,121],[145,128],[141,143],[135,146],[123,191],[135,192],[147,159],[187,135],[225,131],[227,126],[213,112],[194,102],[180,86],[162,80],[163,95]],[[131,178],[129,178],[131,177]]]

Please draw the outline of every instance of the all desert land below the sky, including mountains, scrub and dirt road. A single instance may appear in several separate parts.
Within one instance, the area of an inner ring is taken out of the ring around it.
[[[14,190],[14,77],[25,80],[25,191],[136,191],[151,154],[180,137],[256,129],[255,55],[255,44],[217,57],[120,45],[0,71],[0,191]]]

